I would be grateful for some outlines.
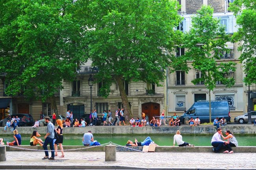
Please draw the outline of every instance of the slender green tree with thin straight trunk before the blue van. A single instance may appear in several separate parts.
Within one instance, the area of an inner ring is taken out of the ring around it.
[[[221,81],[226,87],[234,85],[233,77],[228,77],[230,71],[235,71],[234,62],[217,62],[220,59],[221,51],[227,51],[226,42],[229,41],[229,35],[225,33],[225,28],[220,24],[219,19],[213,17],[213,8],[202,6],[197,14],[192,17],[192,27],[184,35],[184,44],[181,47],[187,51],[184,56],[173,58],[176,62],[172,63],[172,71],[195,69],[201,72],[201,77],[192,80],[193,84],[204,82],[209,90],[209,99],[211,100],[211,91],[216,87],[216,82]],[[193,68],[188,67],[188,62],[192,63]],[[210,122],[211,122],[211,102]]]

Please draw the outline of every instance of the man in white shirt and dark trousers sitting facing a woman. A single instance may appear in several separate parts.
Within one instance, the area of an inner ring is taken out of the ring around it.
[[[228,144],[228,142],[221,140],[221,134],[222,134],[222,130],[221,130],[221,128],[218,128],[217,132],[211,138],[211,146],[215,147],[212,150],[215,153],[219,153],[221,148],[225,148],[225,151],[228,150],[228,148],[226,146],[226,144]],[[224,152],[224,153],[226,153],[226,152]]]

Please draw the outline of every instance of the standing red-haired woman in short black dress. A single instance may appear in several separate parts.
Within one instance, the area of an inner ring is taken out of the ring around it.
[[[58,128],[55,129],[55,132],[57,133],[58,137],[56,139],[56,141],[54,142],[54,148],[55,148],[55,155],[54,156],[58,156],[58,147],[57,144],[59,144],[59,148],[61,150],[61,156],[60,157],[64,157],[64,152],[63,152],[63,147],[62,147],[62,143],[63,143],[63,124],[62,121],[60,119],[58,119],[57,121],[57,125]]]

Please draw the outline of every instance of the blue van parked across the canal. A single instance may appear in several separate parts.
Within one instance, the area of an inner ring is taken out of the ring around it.
[[[185,117],[199,117],[200,122],[209,122],[209,101],[195,102],[187,112],[184,112],[180,116],[180,122],[184,123]],[[224,117],[226,122],[230,122],[230,108],[227,101],[211,101],[211,122],[219,117]]]

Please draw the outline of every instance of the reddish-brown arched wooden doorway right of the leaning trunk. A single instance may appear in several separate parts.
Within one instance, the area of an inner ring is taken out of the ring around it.
[[[159,116],[160,115],[160,104],[158,103],[144,103],[141,105],[142,112],[145,113],[146,116],[148,116],[149,121],[153,116]]]

